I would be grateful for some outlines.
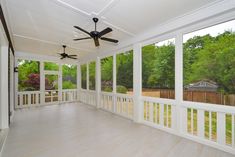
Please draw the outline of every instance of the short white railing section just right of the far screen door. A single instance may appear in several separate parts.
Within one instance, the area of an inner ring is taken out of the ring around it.
[[[62,90],[62,101],[63,102],[74,102],[78,100],[77,89],[64,89]]]

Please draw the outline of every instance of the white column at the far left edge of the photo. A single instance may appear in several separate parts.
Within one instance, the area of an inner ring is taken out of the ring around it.
[[[0,52],[0,129],[8,128],[8,47]]]

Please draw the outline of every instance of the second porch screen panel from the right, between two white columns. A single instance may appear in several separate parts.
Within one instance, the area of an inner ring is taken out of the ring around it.
[[[175,98],[175,39],[142,47],[142,95]]]

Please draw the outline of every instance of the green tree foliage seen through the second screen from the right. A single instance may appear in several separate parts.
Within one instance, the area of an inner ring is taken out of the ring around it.
[[[142,48],[143,88],[168,88],[175,86],[175,45],[168,43]]]

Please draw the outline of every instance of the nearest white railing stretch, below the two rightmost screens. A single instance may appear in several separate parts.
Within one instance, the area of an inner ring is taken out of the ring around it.
[[[146,125],[235,154],[234,107],[142,97],[141,110]]]

